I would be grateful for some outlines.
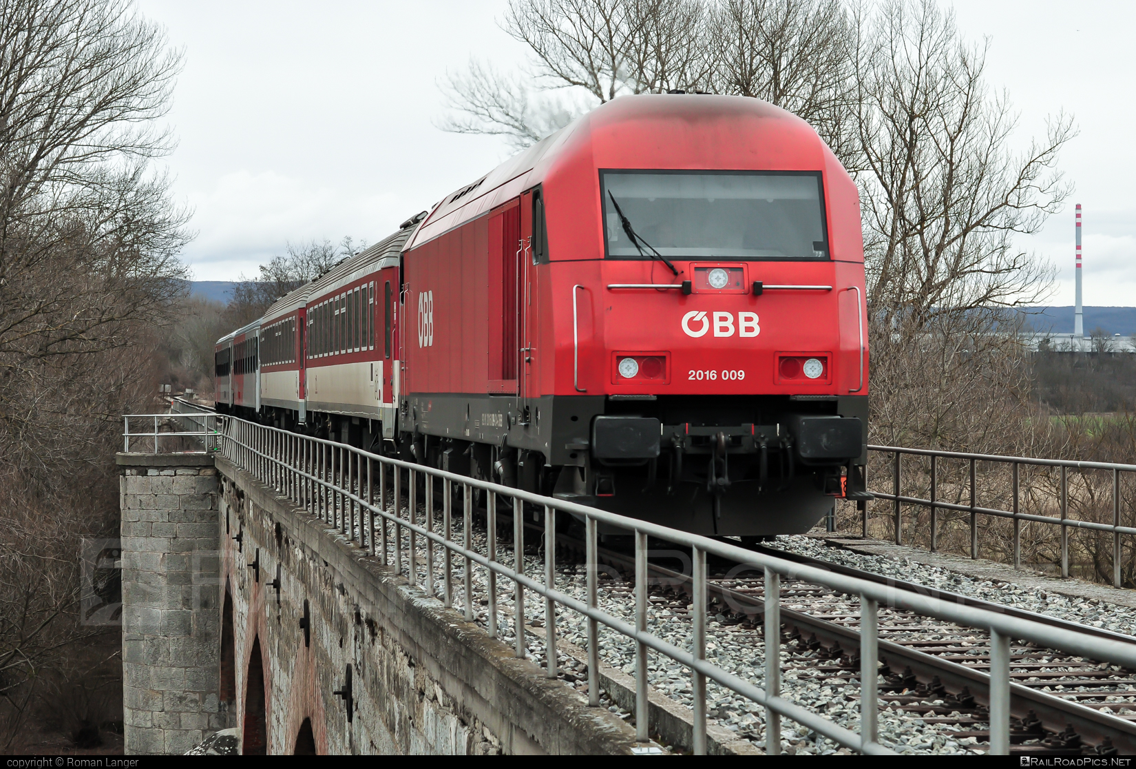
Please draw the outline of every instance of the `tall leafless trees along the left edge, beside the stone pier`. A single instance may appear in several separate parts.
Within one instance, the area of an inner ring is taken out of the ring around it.
[[[0,0],[0,720],[76,621],[83,536],[112,535],[124,410],[185,292],[189,214],[150,163],[179,53],[126,0]],[[0,735],[0,745],[10,734]]]

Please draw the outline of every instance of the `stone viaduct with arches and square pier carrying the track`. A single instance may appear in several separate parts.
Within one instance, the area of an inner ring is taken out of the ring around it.
[[[226,728],[249,754],[633,752],[616,714],[223,456],[118,465],[127,753]]]

